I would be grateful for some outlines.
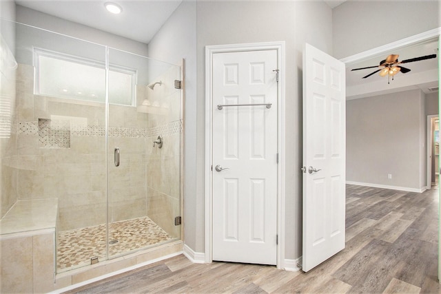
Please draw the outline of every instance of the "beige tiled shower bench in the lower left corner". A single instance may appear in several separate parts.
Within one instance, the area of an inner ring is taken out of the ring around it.
[[[58,198],[17,200],[0,220],[0,292],[54,289]]]

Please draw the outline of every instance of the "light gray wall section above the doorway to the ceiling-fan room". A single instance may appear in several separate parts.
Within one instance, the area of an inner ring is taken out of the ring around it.
[[[441,26],[436,0],[346,1],[332,12],[337,59]]]

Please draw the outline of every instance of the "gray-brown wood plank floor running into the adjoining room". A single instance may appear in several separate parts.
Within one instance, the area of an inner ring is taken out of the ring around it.
[[[346,248],[308,273],[178,255],[69,293],[441,293],[438,187],[346,191]]]

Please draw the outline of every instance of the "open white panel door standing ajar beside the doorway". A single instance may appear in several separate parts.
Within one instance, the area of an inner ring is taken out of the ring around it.
[[[303,55],[303,255],[309,271],[345,248],[345,64]]]

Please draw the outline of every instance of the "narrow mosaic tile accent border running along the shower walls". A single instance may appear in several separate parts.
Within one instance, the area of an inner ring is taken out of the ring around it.
[[[39,121],[43,120],[39,118]],[[50,121],[50,120],[49,120]],[[60,120],[64,122],[64,120]],[[69,120],[65,120],[66,123]],[[19,122],[18,134],[37,135],[39,134],[39,122]],[[170,136],[174,134],[182,134],[183,121],[175,120],[164,125],[150,127],[148,129],[137,129],[134,127],[110,127],[110,137],[122,138],[154,138],[160,134],[161,136]],[[70,136],[105,136],[105,127],[100,125],[76,125],[70,127]]]

